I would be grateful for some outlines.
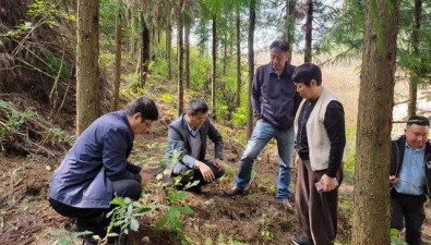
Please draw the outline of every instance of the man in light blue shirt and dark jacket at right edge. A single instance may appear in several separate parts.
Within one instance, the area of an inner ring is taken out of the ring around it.
[[[406,243],[422,244],[422,224],[426,219],[423,203],[430,197],[431,143],[428,140],[430,121],[411,117],[404,135],[392,142],[391,228],[406,226]]]

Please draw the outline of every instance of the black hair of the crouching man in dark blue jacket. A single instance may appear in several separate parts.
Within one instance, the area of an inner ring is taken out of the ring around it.
[[[142,120],[158,120],[158,109],[156,103],[145,96],[142,96],[125,106],[124,111],[127,115],[132,115],[140,112]]]

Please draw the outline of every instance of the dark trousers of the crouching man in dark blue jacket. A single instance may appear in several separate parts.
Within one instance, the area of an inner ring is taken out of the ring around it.
[[[137,200],[141,196],[141,184],[135,180],[121,180],[112,182],[113,193],[116,196],[129,197]],[[106,229],[110,219],[106,215],[115,207],[103,208],[75,208],[64,205],[52,198],[49,203],[53,210],[64,217],[76,218],[76,231],[92,231],[94,234],[105,237]]]

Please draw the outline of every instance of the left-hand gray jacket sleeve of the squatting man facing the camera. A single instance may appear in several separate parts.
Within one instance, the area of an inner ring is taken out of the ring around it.
[[[168,146],[166,147],[165,155],[172,163],[181,161],[191,169],[194,169],[196,164],[196,159],[190,156],[187,151],[184,139],[181,137],[181,134],[172,126],[169,126],[168,128]]]

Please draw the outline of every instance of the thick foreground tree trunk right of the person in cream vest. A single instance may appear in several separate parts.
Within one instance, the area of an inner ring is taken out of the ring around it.
[[[390,161],[399,0],[367,3],[359,93],[352,245],[388,245]]]

